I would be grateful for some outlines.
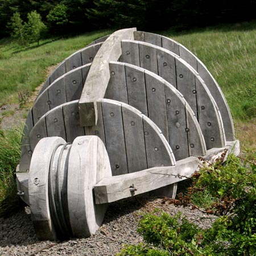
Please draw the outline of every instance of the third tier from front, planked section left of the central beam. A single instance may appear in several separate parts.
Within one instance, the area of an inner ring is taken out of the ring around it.
[[[38,97],[44,92],[44,90],[47,89],[49,85],[51,85],[56,79],[63,76],[65,73],[71,71],[72,69],[79,68],[82,65],[92,63],[101,45],[102,42],[86,46],[85,48],[82,48],[73,53],[71,56],[67,57],[67,59],[63,60],[48,77],[46,82],[44,82],[42,89],[38,93]]]

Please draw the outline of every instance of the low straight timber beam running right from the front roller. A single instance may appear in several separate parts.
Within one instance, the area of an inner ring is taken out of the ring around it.
[[[207,155],[204,156],[207,159],[207,164],[216,161],[226,148],[228,147],[208,150]],[[200,164],[202,163],[198,158],[190,156],[177,161],[175,166],[148,168],[132,174],[102,179],[94,186],[96,204],[110,203],[177,183],[199,170]],[[136,188],[133,193],[130,191],[131,187]]]

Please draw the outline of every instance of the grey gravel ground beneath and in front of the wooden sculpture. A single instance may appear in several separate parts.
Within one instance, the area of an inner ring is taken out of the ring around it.
[[[172,215],[181,212],[202,228],[210,227],[216,219],[200,210],[176,207],[162,199],[134,198],[109,205],[101,228],[89,238],[74,238],[64,242],[39,241],[32,226],[30,208],[13,216],[0,218],[0,255],[115,255],[123,244],[142,241],[137,223],[143,212],[156,208]]]

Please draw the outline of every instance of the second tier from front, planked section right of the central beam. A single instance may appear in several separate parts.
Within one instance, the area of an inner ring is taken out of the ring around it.
[[[163,132],[176,160],[204,155],[199,123],[181,93],[155,73],[111,61],[105,98],[125,101],[147,115]]]

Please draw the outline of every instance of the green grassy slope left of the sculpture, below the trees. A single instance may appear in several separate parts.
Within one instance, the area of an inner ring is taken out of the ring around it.
[[[22,47],[11,39],[0,40],[0,106],[18,103],[18,91],[32,92],[44,80],[46,69],[112,31],[90,32],[73,38],[48,39],[40,46]]]

